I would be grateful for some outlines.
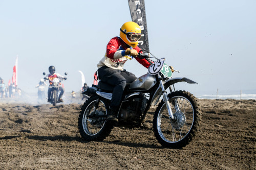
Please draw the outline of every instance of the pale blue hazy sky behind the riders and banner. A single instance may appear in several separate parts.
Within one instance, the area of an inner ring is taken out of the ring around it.
[[[200,94],[256,93],[256,1],[145,1],[151,53],[198,84],[177,89]],[[54,65],[66,91],[89,86],[106,44],[131,21],[128,2],[0,1],[0,77],[8,84],[18,55],[18,86],[36,92],[42,72]],[[137,77],[136,60],[125,68]]]

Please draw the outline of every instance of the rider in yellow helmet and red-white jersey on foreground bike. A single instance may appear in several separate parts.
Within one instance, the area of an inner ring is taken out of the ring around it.
[[[137,46],[140,37],[139,25],[132,21],[125,22],[120,29],[120,37],[114,37],[109,41],[106,45],[106,54],[97,65],[99,79],[114,86],[107,120],[118,122],[118,106],[124,87],[126,83],[132,83],[137,79],[134,74],[123,69],[124,63],[135,58],[144,67],[150,66],[145,59],[137,58],[141,50]]]

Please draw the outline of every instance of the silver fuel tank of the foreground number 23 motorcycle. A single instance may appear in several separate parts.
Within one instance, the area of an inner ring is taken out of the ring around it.
[[[148,90],[153,87],[157,83],[154,75],[150,75],[149,73],[137,78],[130,85],[130,91],[137,90]]]

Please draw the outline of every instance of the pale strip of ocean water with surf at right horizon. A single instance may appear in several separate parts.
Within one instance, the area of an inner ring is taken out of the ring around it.
[[[218,95],[198,95],[198,99],[236,99],[236,100],[256,100],[256,94],[218,94]]]

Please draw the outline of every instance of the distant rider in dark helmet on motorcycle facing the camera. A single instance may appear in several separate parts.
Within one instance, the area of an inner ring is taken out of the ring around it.
[[[49,67],[49,72],[50,74],[46,75],[46,79],[49,80],[49,88],[48,88],[48,101],[47,102],[51,102],[51,91],[52,91],[52,84],[53,84],[53,79],[64,79],[64,80],[67,80],[66,77],[63,77],[61,76],[60,74],[58,74],[57,72],[55,72],[55,67],[53,65],[51,65]],[[61,86],[59,86],[59,90],[60,90],[60,93],[59,93],[59,99],[58,99],[58,102],[63,102],[63,100],[61,99],[62,98],[62,95],[63,93],[65,92],[65,89]]]

